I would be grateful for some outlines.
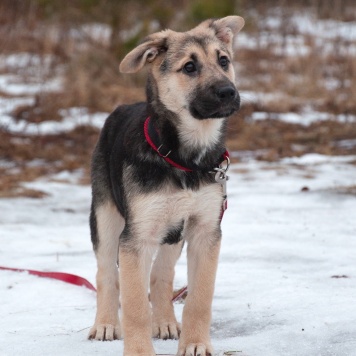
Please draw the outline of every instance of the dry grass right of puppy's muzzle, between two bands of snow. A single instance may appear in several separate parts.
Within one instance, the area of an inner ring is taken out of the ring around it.
[[[330,114],[356,115],[356,56],[348,53],[351,43],[335,38],[328,43],[330,53],[325,53],[310,35],[303,37],[309,49],[305,55],[276,54],[274,46],[241,49],[241,87],[280,94],[261,103],[260,111],[300,112],[311,107]]]

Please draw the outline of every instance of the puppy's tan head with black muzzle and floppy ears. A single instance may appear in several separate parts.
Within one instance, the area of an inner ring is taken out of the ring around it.
[[[240,16],[207,20],[188,32],[165,30],[147,37],[120,64],[135,73],[150,63],[149,102],[195,119],[226,118],[237,111],[233,37],[244,26]]]

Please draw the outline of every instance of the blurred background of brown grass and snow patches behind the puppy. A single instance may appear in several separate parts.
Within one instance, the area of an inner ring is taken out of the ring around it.
[[[87,184],[108,113],[145,99],[144,71],[119,73],[124,55],[152,32],[231,14],[246,20],[235,161],[356,154],[354,0],[1,0],[0,197],[42,197],[21,183],[61,171]]]

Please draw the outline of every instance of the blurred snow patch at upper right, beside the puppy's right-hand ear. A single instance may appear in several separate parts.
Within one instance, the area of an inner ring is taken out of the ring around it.
[[[284,16],[280,9],[273,8],[269,15],[262,18],[251,11],[259,27],[259,36],[241,32],[236,37],[237,47],[249,49],[274,47],[277,55],[290,57],[306,56],[311,53],[307,37],[312,37],[318,46],[319,55],[330,55],[336,50],[343,55],[356,54],[356,26],[354,21],[318,19],[312,12],[301,12]]]

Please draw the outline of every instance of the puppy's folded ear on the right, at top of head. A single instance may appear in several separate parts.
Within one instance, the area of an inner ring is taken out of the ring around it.
[[[232,39],[244,25],[245,20],[241,16],[223,17],[210,24],[215,29],[216,37],[229,46],[232,46]]]

